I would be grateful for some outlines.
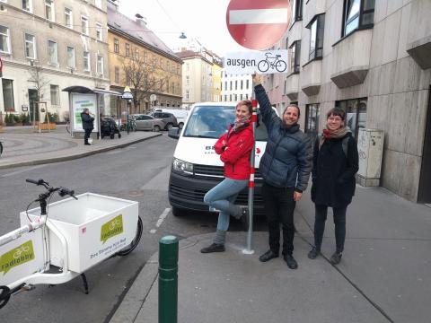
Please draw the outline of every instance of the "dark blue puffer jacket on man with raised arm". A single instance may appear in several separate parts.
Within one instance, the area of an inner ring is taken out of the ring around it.
[[[268,143],[259,164],[265,181],[276,188],[307,188],[312,170],[311,139],[299,130],[299,125],[286,127],[271,108],[262,85],[254,89],[263,123],[268,129]]]

